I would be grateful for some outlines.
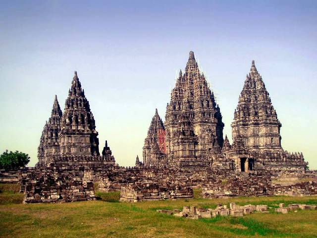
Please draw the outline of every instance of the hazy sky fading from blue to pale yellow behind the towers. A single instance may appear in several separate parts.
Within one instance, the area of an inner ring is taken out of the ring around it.
[[[224,134],[251,60],[282,123],[282,146],[317,169],[317,1],[0,0],[0,152],[37,162],[54,95],[64,108],[74,70],[99,131],[132,166],[155,108],[164,120],[189,51],[209,77]]]

